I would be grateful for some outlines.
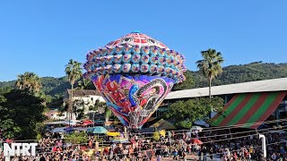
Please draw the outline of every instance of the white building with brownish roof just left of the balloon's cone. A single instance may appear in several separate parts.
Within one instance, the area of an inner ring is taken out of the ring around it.
[[[71,91],[71,89],[67,89],[65,91],[64,102],[71,97]],[[91,89],[74,89],[72,99],[73,101],[83,100],[84,114],[87,114],[89,112],[89,107],[93,106],[97,100],[99,100],[100,102],[105,102],[104,98],[100,96],[100,93],[97,90]]]

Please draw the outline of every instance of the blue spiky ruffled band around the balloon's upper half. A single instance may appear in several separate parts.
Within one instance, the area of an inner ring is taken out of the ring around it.
[[[112,47],[108,45],[89,52],[86,57],[88,62],[84,64],[84,69],[90,72],[97,72],[97,75],[120,72],[143,72],[149,75],[170,77],[176,80],[176,82],[181,82],[185,80],[185,77],[180,74],[187,71],[186,66],[183,65],[185,60],[183,55],[173,50],[156,46],[139,47],[126,44],[124,46]],[[91,75],[91,73],[87,75]]]

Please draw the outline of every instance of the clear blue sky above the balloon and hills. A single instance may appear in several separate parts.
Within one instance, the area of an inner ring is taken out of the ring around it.
[[[287,62],[287,1],[0,2],[0,81],[23,72],[61,77],[73,58],[133,30],[187,57],[196,70],[200,51],[222,52],[223,66]]]

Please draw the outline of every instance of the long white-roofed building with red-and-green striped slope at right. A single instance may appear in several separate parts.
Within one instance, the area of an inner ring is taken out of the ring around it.
[[[178,90],[170,92],[165,101],[170,104],[180,99],[208,97],[208,93],[208,87]],[[287,78],[213,86],[212,96],[225,101],[223,113],[213,115],[213,125],[257,129],[266,120],[286,119],[286,94]]]

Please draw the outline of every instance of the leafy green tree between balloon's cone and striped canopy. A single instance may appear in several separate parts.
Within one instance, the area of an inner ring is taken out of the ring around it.
[[[212,111],[211,106],[221,112],[223,105],[221,97],[214,97],[212,101],[206,97],[181,100],[171,104],[164,117],[174,122],[178,128],[190,129],[196,120],[210,121],[206,115]]]

